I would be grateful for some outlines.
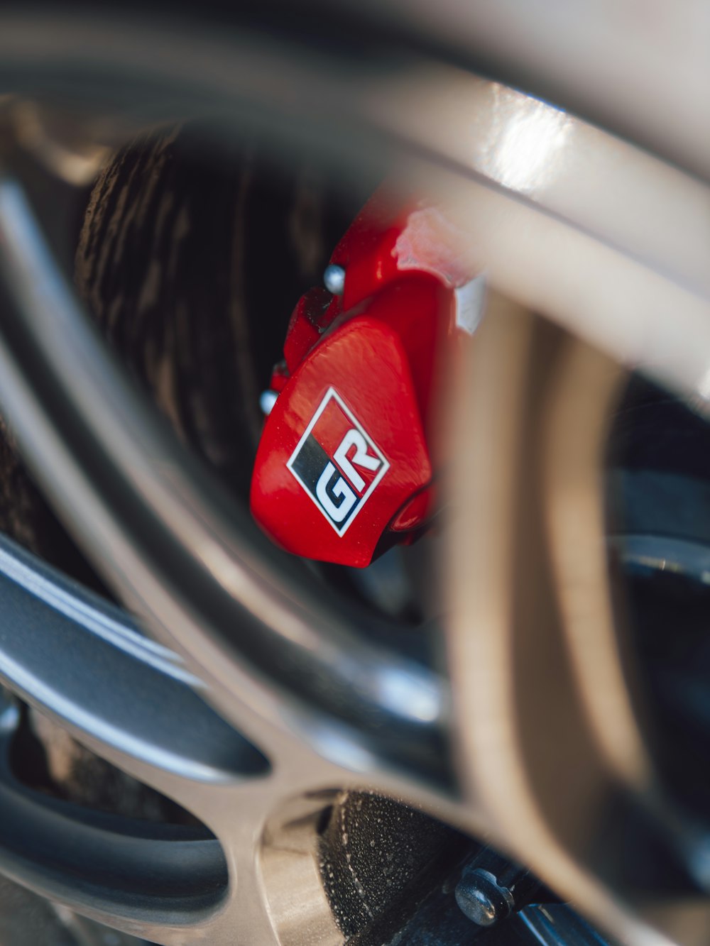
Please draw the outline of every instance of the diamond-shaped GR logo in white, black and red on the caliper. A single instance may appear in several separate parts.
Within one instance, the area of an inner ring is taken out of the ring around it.
[[[339,535],[346,534],[389,469],[382,450],[333,388],[286,465]]]

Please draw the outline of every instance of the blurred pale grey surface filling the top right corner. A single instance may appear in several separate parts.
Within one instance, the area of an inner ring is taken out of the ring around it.
[[[363,9],[361,3],[350,3]],[[702,0],[670,9],[664,0],[367,0],[379,21],[396,24],[481,71],[556,102],[596,125],[617,131],[671,164],[710,177],[710,110],[704,44],[710,14]]]

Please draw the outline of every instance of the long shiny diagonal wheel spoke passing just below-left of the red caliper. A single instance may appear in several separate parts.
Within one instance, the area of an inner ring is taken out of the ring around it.
[[[295,730],[341,765],[399,763],[451,787],[445,682],[366,642],[357,631],[372,619],[309,587],[222,495],[115,365],[7,181],[0,234],[0,396],[27,463],[98,569],[250,738]]]

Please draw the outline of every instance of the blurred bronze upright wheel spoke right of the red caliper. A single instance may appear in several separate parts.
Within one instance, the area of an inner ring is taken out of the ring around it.
[[[659,785],[612,621],[601,461],[620,377],[492,295],[458,428],[450,656],[462,771],[501,843],[613,934],[683,928],[701,941],[691,828]]]

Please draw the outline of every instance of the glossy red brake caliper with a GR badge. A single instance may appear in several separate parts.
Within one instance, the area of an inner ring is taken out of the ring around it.
[[[342,292],[295,307],[251,491],[289,552],[364,567],[432,516],[435,372],[480,302],[455,236],[434,208],[378,192],[331,256]]]

